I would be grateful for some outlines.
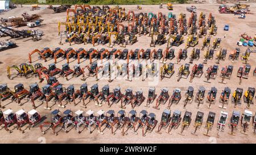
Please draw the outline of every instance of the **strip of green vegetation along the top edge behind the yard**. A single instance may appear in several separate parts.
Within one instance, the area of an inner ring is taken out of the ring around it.
[[[159,5],[160,3],[186,3],[188,0],[46,0],[46,4],[83,4],[89,5]],[[12,0],[15,4],[37,4],[38,0]]]

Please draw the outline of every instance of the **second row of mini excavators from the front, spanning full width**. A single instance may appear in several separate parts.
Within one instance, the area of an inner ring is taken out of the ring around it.
[[[80,90],[75,90],[74,85],[70,85],[67,87],[63,87],[62,84],[56,82],[55,85],[50,85],[49,83],[40,89],[37,83],[30,85],[30,90],[26,90],[22,83],[14,86],[14,91],[10,90],[6,84],[0,86],[0,95],[1,102],[5,100],[11,100],[12,102],[18,103],[20,106],[26,102],[23,100],[31,101],[32,107],[37,108],[35,104],[35,100],[39,100],[39,102],[46,103],[44,107],[46,110],[51,110],[51,107],[54,104],[58,103],[58,106],[61,108],[65,107],[65,103],[73,103],[77,104],[82,102],[82,107],[86,107],[88,103],[91,101],[95,103],[96,106],[102,106],[103,103],[107,103],[108,107],[111,107],[113,104],[117,104],[120,102],[120,108],[125,109],[126,105],[130,104],[131,108],[135,108],[136,106],[141,106],[141,104],[146,100],[146,97],[143,95],[142,90],[133,91],[131,87],[125,90],[125,93],[121,93],[121,88],[119,86],[115,87],[113,91],[110,91],[109,85],[105,85],[102,87],[102,90],[99,90],[98,84],[95,84],[91,87],[91,90],[88,90],[88,85],[86,83],[80,86]],[[194,99],[194,89],[192,86],[189,86],[187,91],[185,92],[184,99],[184,108],[188,103],[192,103]],[[226,108],[225,104],[228,104],[229,98],[232,98],[231,101],[234,104],[234,107],[240,106],[243,102],[247,104],[247,108],[250,108],[250,105],[253,104],[253,98],[255,96],[255,88],[249,87],[247,91],[245,91],[244,95],[243,89],[237,88],[233,94],[231,94],[231,90],[229,87],[225,87],[220,95],[219,102],[221,105],[220,108]],[[168,88],[163,87],[161,89],[161,93],[156,98],[157,95],[155,93],[155,87],[150,87],[148,89],[148,97],[146,100],[145,107],[150,107],[150,104],[156,102],[153,108],[159,110],[160,104],[165,104],[168,101],[167,109],[170,109],[172,104],[178,104],[181,100],[181,90],[179,88],[174,89],[173,94],[168,94]],[[54,100],[53,100],[54,98]],[[207,94],[207,102],[209,103],[208,108],[212,106],[217,100],[217,89],[216,87],[212,87]],[[80,99],[79,102],[76,102],[76,99]],[[196,95],[195,101],[197,103],[197,108],[199,108],[200,104],[204,103],[205,99],[205,88],[199,87]],[[54,104],[51,106],[48,105],[49,101],[53,100]],[[88,101],[86,101],[88,100]],[[0,102],[0,103],[1,103]],[[2,108],[5,106],[2,106]],[[40,106],[40,105],[39,105]]]

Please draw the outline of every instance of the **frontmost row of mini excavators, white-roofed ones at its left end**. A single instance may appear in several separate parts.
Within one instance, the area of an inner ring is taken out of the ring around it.
[[[172,131],[179,126],[181,126],[180,135],[185,136],[185,131],[188,130],[189,125],[192,123],[192,112],[185,111],[183,118],[181,116],[180,110],[174,110],[171,115],[171,110],[165,109],[162,113],[161,120],[158,122],[156,120],[156,115],[154,113],[149,113],[146,110],[139,112],[131,110],[127,115],[124,110],[119,110],[115,113],[114,110],[99,110],[97,114],[94,111],[88,110],[86,112],[82,110],[77,110],[73,112],[72,110],[53,110],[50,114],[49,120],[43,122],[41,115],[36,110],[31,110],[26,112],[21,109],[14,113],[13,110],[8,109],[6,111],[0,112],[1,124],[4,124],[4,128],[8,132],[13,132],[16,128],[20,132],[24,133],[26,129],[31,129],[35,125],[39,125],[42,134],[46,134],[49,129],[51,129],[54,135],[58,135],[61,131],[68,133],[73,128],[81,133],[84,129],[92,133],[95,129],[101,135],[104,134],[104,128],[108,128],[110,132],[114,135],[117,130],[120,129],[121,135],[125,136],[130,133],[138,135],[138,130],[142,130],[142,136],[146,136],[146,133],[151,133],[155,127],[155,132],[162,134],[161,130],[165,129],[166,133],[172,135]],[[210,111],[205,122],[205,136],[210,136],[214,120],[216,119],[216,113]],[[240,111],[233,111],[230,116],[230,121],[228,127],[231,128],[230,135],[235,136],[235,132],[238,129],[238,125],[241,119],[241,133],[248,135],[248,130],[250,123],[253,122],[253,133],[256,132],[256,119],[253,113],[249,110],[245,110],[243,114]],[[204,112],[197,111],[194,123],[194,130],[191,132],[192,135],[197,136],[197,131],[203,126]],[[220,116],[217,121],[217,137],[220,137],[220,133],[224,131],[224,128],[228,122],[228,112],[221,111]],[[11,129],[13,127],[13,129]]]

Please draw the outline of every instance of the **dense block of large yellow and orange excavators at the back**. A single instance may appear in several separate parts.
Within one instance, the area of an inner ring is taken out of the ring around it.
[[[59,22],[60,44],[62,37],[65,41],[81,44],[92,43],[114,44],[125,47],[128,44],[137,42],[137,35],[147,35],[151,37],[151,46],[156,44],[179,45],[183,42],[183,35],[196,35],[200,30],[199,37],[207,35],[216,35],[217,27],[215,26],[214,16],[210,13],[209,18],[205,19],[205,14],[200,13],[197,27],[197,15],[192,12],[187,22],[186,15],[181,13],[179,19],[170,12],[163,15],[162,12],[146,14],[129,10],[125,12],[125,8],[119,6],[110,9],[109,6],[90,7],[89,5],[76,5],[75,9],[67,10],[67,21]],[[122,24],[123,21],[128,22],[128,26]],[[207,22],[206,22],[207,21]],[[177,24],[179,23],[179,25]],[[208,28],[207,28],[208,23]],[[60,32],[61,25],[65,26],[65,31]],[[179,30],[179,32],[178,32]],[[168,35],[169,36],[166,36]],[[114,40],[112,40],[114,35]]]

